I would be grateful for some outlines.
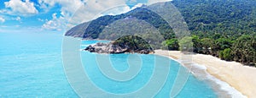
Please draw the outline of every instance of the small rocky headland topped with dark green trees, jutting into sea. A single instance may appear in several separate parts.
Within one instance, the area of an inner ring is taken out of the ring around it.
[[[144,41],[142,38],[135,35],[123,36],[118,40],[109,43],[96,43],[94,45],[87,46],[84,51],[112,54],[125,52],[137,52],[141,54],[154,53],[154,49],[147,41]]]

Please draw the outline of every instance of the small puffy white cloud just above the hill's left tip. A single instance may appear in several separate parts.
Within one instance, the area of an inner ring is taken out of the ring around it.
[[[63,30],[66,25],[65,19],[62,16],[57,18],[56,15],[57,14],[52,14],[52,19],[46,20],[42,28],[45,30]]]

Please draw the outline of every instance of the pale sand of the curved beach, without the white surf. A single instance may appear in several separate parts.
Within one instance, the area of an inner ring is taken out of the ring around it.
[[[241,63],[227,62],[218,57],[212,57],[211,55],[185,55],[179,51],[163,50],[155,50],[155,54],[172,57],[176,60],[184,60],[183,57],[189,56],[192,58],[191,60],[193,63],[206,67],[207,73],[230,84],[230,86],[240,91],[242,95],[246,95],[248,98],[256,97],[256,68],[243,66]]]

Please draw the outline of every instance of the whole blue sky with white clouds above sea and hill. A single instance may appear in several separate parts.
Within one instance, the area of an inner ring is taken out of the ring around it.
[[[65,32],[103,15],[169,0],[0,0],[1,32]]]

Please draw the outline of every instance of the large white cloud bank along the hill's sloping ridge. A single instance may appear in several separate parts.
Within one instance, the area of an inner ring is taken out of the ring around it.
[[[130,8],[126,5],[127,0],[39,0],[38,3],[42,6],[42,8],[51,8],[54,7],[55,4],[61,5],[61,17],[54,18],[52,20],[47,20],[43,25],[43,28],[56,30],[69,30],[74,25],[84,23],[86,21],[90,21],[92,19],[96,19],[102,15],[110,14],[123,14],[131,11],[134,8],[141,7],[143,4],[138,3],[133,8]],[[131,0],[131,2],[137,2],[136,0]],[[86,3],[86,4],[85,4]],[[64,21],[61,26],[57,24],[57,21],[60,19]],[[49,27],[52,25],[54,27]]]

